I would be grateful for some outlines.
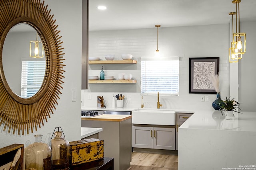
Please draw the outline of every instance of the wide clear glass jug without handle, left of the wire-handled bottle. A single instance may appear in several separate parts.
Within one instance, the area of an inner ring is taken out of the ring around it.
[[[25,148],[25,168],[34,168],[36,170],[50,169],[51,148],[42,142],[43,135],[34,135],[34,137],[35,143]]]

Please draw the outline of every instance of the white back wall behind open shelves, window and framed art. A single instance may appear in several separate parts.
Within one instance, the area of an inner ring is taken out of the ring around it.
[[[160,27],[158,49],[165,57],[180,56],[180,95],[160,96],[162,108],[212,109],[216,94],[189,94],[189,58],[220,57],[221,96],[229,96],[228,48],[229,24],[188,27]],[[82,90],[82,106],[96,107],[96,96],[104,96],[107,107],[111,107],[113,94],[132,95],[124,101],[124,107],[140,107],[140,58],[154,57],[156,50],[156,28],[89,32],[89,57],[114,54],[121,59],[122,53],[132,54],[137,64],[103,64],[105,74],[117,78],[118,73],[131,73],[136,84],[89,84]],[[89,65],[89,75],[99,75],[100,64]],[[210,102],[200,102],[200,96],[209,96]],[[91,98],[90,100],[88,98]],[[156,108],[156,96],[144,96],[144,105]]]

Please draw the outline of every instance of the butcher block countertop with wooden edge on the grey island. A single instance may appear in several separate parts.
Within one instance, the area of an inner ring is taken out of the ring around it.
[[[94,117],[82,117],[82,120],[94,120],[94,121],[125,121],[132,118],[132,115],[98,115]]]

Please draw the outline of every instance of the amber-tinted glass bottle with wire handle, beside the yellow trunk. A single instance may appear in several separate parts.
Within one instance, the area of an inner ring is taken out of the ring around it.
[[[59,127],[58,127],[59,128]],[[62,136],[62,131],[56,131],[51,140],[52,145],[52,169],[69,169],[69,142]]]

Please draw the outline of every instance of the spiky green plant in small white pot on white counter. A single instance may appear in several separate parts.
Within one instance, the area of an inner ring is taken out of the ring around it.
[[[236,111],[236,109],[240,109],[240,103],[236,102],[234,99],[227,98],[223,100],[224,104],[220,106],[220,110],[222,113],[222,110],[226,111],[227,116],[233,116],[233,111],[237,113],[241,113],[239,111]],[[241,110],[241,109],[240,109]],[[222,113],[223,115],[223,113]]]

